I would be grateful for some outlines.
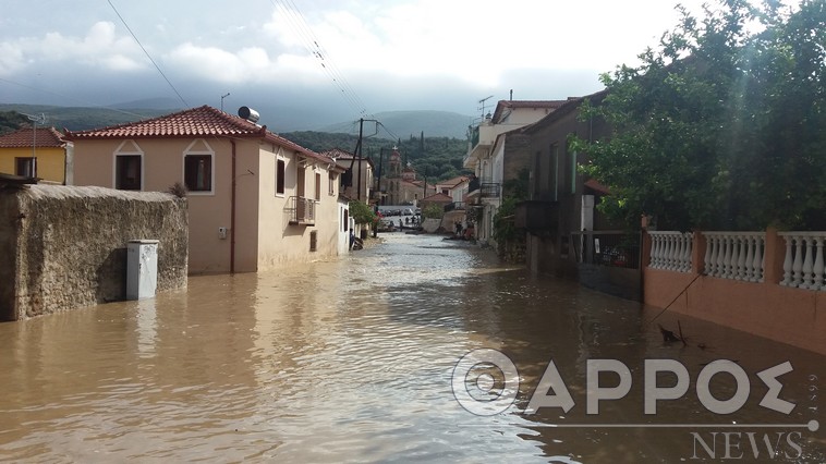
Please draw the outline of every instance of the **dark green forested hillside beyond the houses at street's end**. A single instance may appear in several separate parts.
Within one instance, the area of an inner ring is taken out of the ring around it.
[[[315,151],[339,148],[353,152],[359,141],[355,135],[312,131],[289,132],[281,135]],[[406,166],[410,162],[416,170],[418,178],[427,176],[428,182],[471,173],[462,168],[462,160],[467,152],[467,141],[452,137],[427,137],[424,132],[420,133],[418,136],[411,135],[409,138],[397,141],[364,138],[362,156],[371,157],[376,169],[378,169],[379,155],[384,149],[382,167],[387,172],[387,159],[393,146],[399,148],[404,164]]]

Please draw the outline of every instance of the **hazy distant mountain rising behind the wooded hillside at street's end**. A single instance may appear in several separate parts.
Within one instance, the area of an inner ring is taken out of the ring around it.
[[[375,114],[375,119],[386,127],[379,130],[379,137],[406,138],[411,135],[420,136],[424,132],[426,137],[450,137],[464,139],[467,135],[467,125],[472,117],[450,111],[385,111]],[[365,121],[365,134],[374,130],[374,124]],[[314,129],[316,132],[359,132],[357,121],[341,122],[323,127]],[[388,134],[389,132],[389,134]]]

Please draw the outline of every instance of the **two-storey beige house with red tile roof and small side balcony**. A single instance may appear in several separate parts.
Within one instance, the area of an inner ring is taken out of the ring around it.
[[[262,271],[347,251],[343,170],[255,120],[203,106],[69,132],[75,184],[145,192],[185,185],[190,273]]]

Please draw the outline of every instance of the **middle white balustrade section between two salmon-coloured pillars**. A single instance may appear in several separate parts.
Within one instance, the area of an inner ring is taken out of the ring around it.
[[[706,276],[763,282],[765,232],[703,232],[703,236]]]

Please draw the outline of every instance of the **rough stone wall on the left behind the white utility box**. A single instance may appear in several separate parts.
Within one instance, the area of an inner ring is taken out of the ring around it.
[[[186,200],[158,192],[32,185],[0,191],[0,319],[120,301],[126,244],[158,240],[158,286],[186,286]]]

